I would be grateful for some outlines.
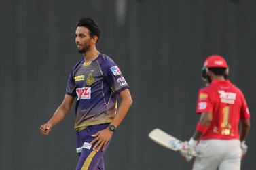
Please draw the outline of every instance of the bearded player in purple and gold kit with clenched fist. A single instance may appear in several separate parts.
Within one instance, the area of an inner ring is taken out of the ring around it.
[[[75,64],[65,98],[52,118],[41,125],[47,136],[75,104],[75,133],[79,160],[76,170],[105,169],[103,154],[118,125],[126,116],[132,98],[128,83],[111,58],[96,49],[100,28],[91,18],[81,18],[75,30],[75,43],[83,58]],[[117,108],[117,95],[121,102]]]

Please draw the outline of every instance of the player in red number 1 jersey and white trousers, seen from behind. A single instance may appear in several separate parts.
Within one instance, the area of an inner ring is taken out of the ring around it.
[[[250,129],[246,100],[242,91],[227,80],[228,66],[223,57],[206,58],[202,73],[207,86],[198,93],[196,112],[200,120],[181,154],[189,161],[189,153],[196,150],[194,170],[238,170]]]

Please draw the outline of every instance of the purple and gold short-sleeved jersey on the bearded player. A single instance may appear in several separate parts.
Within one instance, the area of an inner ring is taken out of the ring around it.
[[[99,54],[88,66],[84,59],[75,64],[66,89],[67,95],[77,98],[75,130],[111,123],[117,110],[117,94],[127,88],[117,64],[105,54]]]

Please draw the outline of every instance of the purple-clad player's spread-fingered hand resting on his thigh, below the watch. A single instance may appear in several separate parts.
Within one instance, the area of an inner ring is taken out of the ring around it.
[[[90,144],[96,144],[93,147],[93,150],[96,150],[97,152],[102,148],[102,150],[105,150],[105,147],[107,145],[107,142],[111,139],[113,135],[113,131],[109,130],[109,127],[107,129],[104,129],[102,131],[98,131],[96,134],[92,135],[92,137],[96,137]]]

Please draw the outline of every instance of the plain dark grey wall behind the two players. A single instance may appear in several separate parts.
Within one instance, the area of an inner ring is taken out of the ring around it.
[[[105,154],[107,169],[191,169],[147,134],[160,127],[191,137],[200,69],[211,54],[225,56],[248,101],[252,127],[242,169],[256,169],[255,9],[254,0],[1,0],[0,169],[75,169],[74,113],[49,137],[39,126],[62,101],[82,57],[74,39],[82,16],[102,28],[98,50],[119,64],[134,99]]]

